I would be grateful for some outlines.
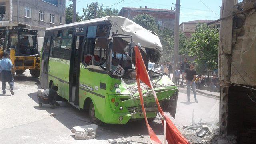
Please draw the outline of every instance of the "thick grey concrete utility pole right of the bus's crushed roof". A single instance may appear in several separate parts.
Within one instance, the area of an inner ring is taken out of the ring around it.
[[[179,24],[180,24],[180,0],[176,0],[175,4],[175,27],[174,27],[174,53],[173,61],[174,68],[173,72],[176,70],[179,62]],[[175,80],[175,74],[173,74],[172,80]]]

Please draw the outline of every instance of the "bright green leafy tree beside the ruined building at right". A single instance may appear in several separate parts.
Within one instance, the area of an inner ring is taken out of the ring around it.
[[[207,67],[208,70],[218,68],[218,29],[198,24],[196,32],[188,43],[189,55],[197,56],[196,70],[201,73]]]

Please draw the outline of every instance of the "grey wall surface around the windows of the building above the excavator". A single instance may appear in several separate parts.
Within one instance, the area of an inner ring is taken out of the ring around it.
[[[55,6],[42,0],[19,1],[20,6],[18,8],[18,0],[12,0],[12,26],[23,25],[26,28],[38,30],[38,36],[44,36],[46,28],[61,25],[60,16],[62,16],[62,23],[65,24],[65,0],[62,0],[62,6]],[[31,8],[31,18],[25,17],[25,7]],[[39,20],[39,10],[44,12],[44,21]],[[50,23],[50,14],[54,14],[54,24]]]

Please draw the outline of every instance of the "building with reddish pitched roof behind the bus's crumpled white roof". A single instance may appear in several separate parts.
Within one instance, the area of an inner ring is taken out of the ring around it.
[[[156,20],[156,25],[159,26],[161,30],[168,28],[170,30],[174,29],[175,24],[175,11],[166,9],[156,9],[156,8],[128,8],[122,7],[119,12],[120,16],[129,18],[132,20],[137,14],[150,14]]]

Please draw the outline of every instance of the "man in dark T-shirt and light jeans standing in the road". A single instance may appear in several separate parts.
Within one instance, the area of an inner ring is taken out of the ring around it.
[[[198,100],[196,99],[196,84],[194,82],[196,79],[196,71],[194,70],[194,63],[191,63],[189,65],[189,68],[186,69],[185,72],[182,73],[182,78],[184,78],[187,83],[188,102],[190,102],[190,88],[192,88],[192,90],[193,90],[195,102],[198,102]]]

